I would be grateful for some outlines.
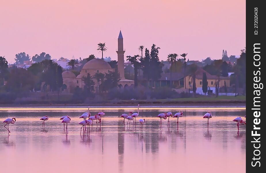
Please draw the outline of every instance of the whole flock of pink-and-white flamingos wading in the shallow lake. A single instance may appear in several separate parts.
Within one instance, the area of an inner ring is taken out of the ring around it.
[[[80,125],[82,125],[81,128],[80,128],[80,134],[81,134],[82,128],[83,128],[83,133],[86,132],[86,131],[87,131],[87,133],[90,132],[90,125],[93,125],[93,121],[94,120],[96,120],[97,127],[98,127],[98,123],[100,123],[100,125],[101,125],[102,116],[104,116],[104,114],[105,114],[104,112],[98,112],[98,114],[96,114],[94,116],[91,116],[91,113],[89,112],[89,109],[90,109],[90,106],[88,107],[88,112],[84,112],[79,117],[79,118],[83,119],[83,121],[81,121],[79,123]],[[127,125],[128,125],[128,123],[130,125],[130,121],[133,121],[133,126],[134,126],[134,122],[135,122],[135,125],[136,125],[136,117],[138,115],[139,115],[139,104],[138,104],[138,112],[137,113],[132,113],[130,111],[128,114],[122,114],[120,117],[121,118],[124,118],[124,121],[123,121],[124,126],[125,126],[125,120],[126,119],[128,120]],[[172,112],[160,113],[160,114],[157,115],[157,117],[160,118],[160,123],[159,123],[160,124],[160,127],[161,127],[162,119],[167,119],[167,117],[168,117],[168,124],[169,124],[169,117],[173,117],[173,118],[177,118],[176,119],[176,123],[178,125],[178,119],[180,117],[183,117],[183,112],[182,111],[179,111],[176,114],[174,114],[174,116],[172,115]],[[88,120],[87,120],[87,118],[88,118]],[[207,124],[209,125],[209,119],[212,118],[212,112],[210,112],[210,111],[207,112],[203,116],[203,118],[208,119]],[[244,118],[246,118],[246,116],[244,116]],[[48,120],[48,116],[45,115],[40,120],[43,121],[42,125],[43,125],[43,127],[45,127],[45,121]],[[62,120],[61,123],[63,123],[63,125],[64,125],[64,131],[66,131],[66,133],[67,133],[67,125],[68,125],[68,123],[70,123],[71,118],[68,115],[66,115],[66,116],[62,116],[60,118],[60,120]],[[233,121],[234,122],[237,122],[237,129],[238,129],[238,131],[239,131],[239,125],[246,124],[246,122],[243,121],[243,119],[241,117],[237,117]],[[14,124],[15,122],[16,122],[16,118],[12,118],[12,119],[8,118],[5,121],[3,121],[3,123],[6,123],[4,125],[4,127],[8,130],[8,133],[10,133],[10,131],[9,131],[9,124]],[[140,123],[140,128],[142,128],[143,127],[143,124],[145,123],[145,119],[140,119],[139,120],[139,123]],[[7,127],[6,127],[6,125],[7,125]],[[87,128],[86,128],[86,126],[87,126]]]

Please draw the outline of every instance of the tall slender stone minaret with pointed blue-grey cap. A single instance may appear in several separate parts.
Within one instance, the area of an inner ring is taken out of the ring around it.
[[[121,79],[125,79],[125,72],[124,72],[124,48],[123,48],[123,36],[120,31],[118,36],[118,49],[116,51],[117,53],[117,69],[120,74]]]

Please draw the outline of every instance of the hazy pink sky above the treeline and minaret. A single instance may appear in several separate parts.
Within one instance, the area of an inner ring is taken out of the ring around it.
[[[105,42],[104,57],[117,60],[121,28],[125,56],[154,43],[161,48],[160,60],[169,53],[219,59],[223,49],[239,55],[246,46],[245,16],[243,0],[2,1],[0,56],[9,62],[19,52],[30,57],[46,52],[52,59],[101,57],[97,44]]]

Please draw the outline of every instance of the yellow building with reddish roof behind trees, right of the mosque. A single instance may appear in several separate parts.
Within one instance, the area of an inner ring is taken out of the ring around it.
[[[216,75],[209,74],[204,69],[198,69],[196,71],[196,88],[197,88],[196,93],[204,94],[202,91],[203,73],[206,73],[208,88],[212,91],[212,93],[215,93],[215,84],[218,81],[219,81],[219,88],[223,87],[225,85],[225,82],[227,87],[230,86],[230,77],[223,77],[223,76],[218,77]],[[186,76],[186,88],[190,89],[190,91],[193,90],[192,80],[193,80],[192,78]]]

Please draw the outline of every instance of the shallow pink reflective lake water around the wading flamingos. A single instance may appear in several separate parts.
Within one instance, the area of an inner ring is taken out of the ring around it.
[[[178,129],[170,118],[170,127],[163,120],[160,130],[157,114],[179,110],[184,116]],[[202,118],[208,110],[209,129]],[[246,126],[238,133],[232,122],[245,116],[245,108],[140,108],[134,127],[124,127],[119,116],[136,108],[90,108],[98,111],[105,112],[101,126],[94,123],[88,135],[80,135],[86,108],[0,108],[1,122],[16,117],[9,136],[0,126],[1,172],[245,172]],[[39,119],[45,114],[43,128]],[[63,115],[71,117],[67,136]],[[142,130],[140,118],[146,119]]]

